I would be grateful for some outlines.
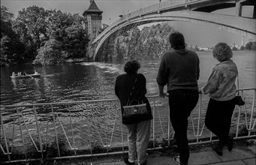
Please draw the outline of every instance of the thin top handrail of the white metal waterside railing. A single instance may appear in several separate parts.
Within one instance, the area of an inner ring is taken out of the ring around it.
[[[256,90],[256,88],[245,88],[245,89],[237,89],[236,91],[248,91],[248,90]],[[157,98],[159,95],[146,95],[146,98]],[[95,103],[101,101],[119,101],[118,98],[110,98],[110,99],[100,99],[100,100],[92,100],[92,101],[67,101],[67,102],[52,102],[52,103],[43,103],[43,104],[19,104],[19,105],[1,105],[1,108],[11,108],[11,107],[33,107],[33,106],[44,106],[44,105],[59,105],[59,104],[86,104],[86,103]]]

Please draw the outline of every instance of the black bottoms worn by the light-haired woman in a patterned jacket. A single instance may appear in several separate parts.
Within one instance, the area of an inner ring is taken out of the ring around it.
[[[212,98],[206,112],[205,124],[219,138],[221,144],[226,144],[230,130],[231,118],[235,108],[233,100],[215,101]]]

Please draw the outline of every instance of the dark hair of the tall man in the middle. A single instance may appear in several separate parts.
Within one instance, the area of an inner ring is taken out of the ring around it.
[[[170,46],[173,49],[185,49],[185,39],[180,32],[174,32],[169,36]]]

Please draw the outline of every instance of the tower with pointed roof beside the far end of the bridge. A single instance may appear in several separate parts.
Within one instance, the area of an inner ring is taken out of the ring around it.
[[[86,18],[85,28],[91,40],[99,35],[102,13],[103,11],[98,9],[94,0],[90,0],[89,8],[83,12],[83,17]]]

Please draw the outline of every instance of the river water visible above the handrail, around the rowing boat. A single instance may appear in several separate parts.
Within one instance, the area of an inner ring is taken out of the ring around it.
[[[218,62],[211,51],[197,52],[200,58],[199,86],[206,83],[212,67]],[[160,61],[160,59],[159,59]],[[147,81],[147,95],[157,95],[155,77],[158,62],[143,65],[139,70]],[[255,88],[256,52],[235,51],[233,61],[239,69],[239,88]],[[1,104],[32,104],[64,101],[87,101],[116,98],[116,77],[123,74],[123,65],[84,62],[50,66],[14,66],[1,68]],[[11,80],[12,72],[27,74],[38,71],[40,78]]]

